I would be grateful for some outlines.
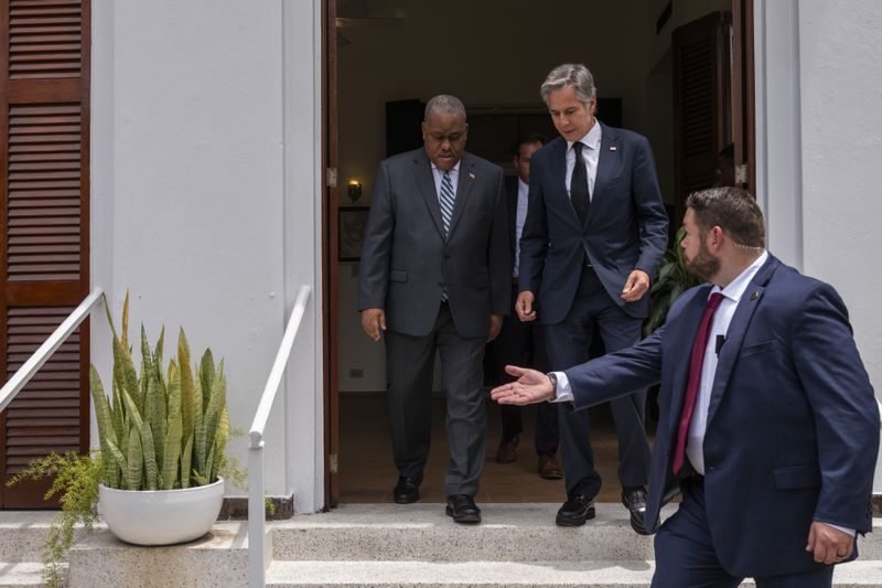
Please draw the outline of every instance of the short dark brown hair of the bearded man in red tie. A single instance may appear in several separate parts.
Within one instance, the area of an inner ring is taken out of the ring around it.
[[[686,206],[692,209],[702,234],[719,226],[739,245],[765,247],[763,212],[746,190],[731,185],[699,190],[689,194]]]

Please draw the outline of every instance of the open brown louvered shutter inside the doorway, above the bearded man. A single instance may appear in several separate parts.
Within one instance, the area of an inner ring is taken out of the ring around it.
[[[729,15],[713,12],[677,28],[671,43],[676,218],[686,196],[717,180],[717,158],[731,142]]]

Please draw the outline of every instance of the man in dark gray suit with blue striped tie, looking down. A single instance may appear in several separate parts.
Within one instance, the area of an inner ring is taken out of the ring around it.
[[[447,514],[480,523],[474,495],[487,445],[484,344],[509,309],[512,267],[502,168],[464,152],[462,103],[426,106],[423,149],[383,161],[358,278],[365,332],[386,339],[392,499],[419,500],[429,455],[435,351],[447,393]]]

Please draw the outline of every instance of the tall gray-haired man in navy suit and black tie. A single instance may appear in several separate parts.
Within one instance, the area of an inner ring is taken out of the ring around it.
[[[556,67],[540,93],[560,137],[530,160],[515,308],[523,321],[538,314],[551,368],[562,370],[589,359],[595,329],[607,352],[637,342],[668,220],[649,142],[594,118],[596,89],[584,65]],[[610,404],[622,502],[632,522],[642,520],[646,505],[645,402],[646,391],[635,388]],[[588,411],[560,411],[559,418],[567,501],[557,523],[577,526],[594,516],[601,478]]]

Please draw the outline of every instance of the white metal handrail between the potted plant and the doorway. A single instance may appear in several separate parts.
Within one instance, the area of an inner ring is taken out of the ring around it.
[[[248,587],[263,588],[266,586],[266,562],[263,547],[267,532],[267,513],[263,502],[263,429],[269,419],[272,403],[279,392],[282,374],[291,355],[294,338],[300,329],[300,321],[306,310],[312,288],[301,286],[297,295],[291,318],[284,329],[282,342],[276,353],[276,361],[260,395],[257,413],[248,430]]]

